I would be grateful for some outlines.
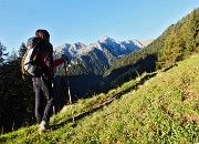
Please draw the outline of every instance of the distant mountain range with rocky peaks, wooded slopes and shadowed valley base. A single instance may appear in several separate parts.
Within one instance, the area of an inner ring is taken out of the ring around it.
[[[103,74],[118,60],[135,51],[140,51],[153,40],[117,41],[104,35],[95,43],[88,45],[77,42],[74,44],[64,43],[54,51],[54,59],[62,54],[67,55],[71,64],[67,69],[72,95],[84,95],[94,85],[102,83]],[[57,66],[55,75],[65,75],[63,66]],[[56,83],[61,79],[56,76]],[[100,89],[98,89],[100,90]]]

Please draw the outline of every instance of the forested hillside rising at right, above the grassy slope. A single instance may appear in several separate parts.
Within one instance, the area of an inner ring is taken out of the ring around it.
[[[105,73],[107,85],[118,85],[143,72],[169,68],[199,52],[199,8],[170,25],[151,44],[134,52]]]

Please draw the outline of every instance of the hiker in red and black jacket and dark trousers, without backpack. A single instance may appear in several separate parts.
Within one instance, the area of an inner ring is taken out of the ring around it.
[[[39,41],[40,44],[40,63],[42,65],[43,74],[41,76],[33,76],[33,88],[35,92],[35,119],[39,124],[39,133],[46,132],[50,116],[53,113],[53,68],[67,62],[65,55],[61,59],[53,61],[53,47],[50,43],[50,34],[46,30],[36,30],[35,37],[28,40],[27,47],[33,44],[34,41]],[[44,111],[42,109],[43,97],[46,100]]]

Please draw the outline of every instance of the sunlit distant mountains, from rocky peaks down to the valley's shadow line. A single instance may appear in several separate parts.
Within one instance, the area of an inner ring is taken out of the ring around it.
[[[149,42],[149,40],[148,40]],[[146,43],[147,44],[147,43]],[[117,41],[104,35],[88,45],[81,42],[62,44],[54,50],[54,56],[65,54],[71,61],[69,75],[95,74],[101,75],[119,58],[139,51],[145,43],[138,40]]]

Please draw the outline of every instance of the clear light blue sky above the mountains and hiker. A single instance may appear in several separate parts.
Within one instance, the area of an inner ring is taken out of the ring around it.
[[[103,35],[156,39],[198,7],[198,0],[0,0],[0,41],[18,51],[36,29],[50,32],[54,48]]]

